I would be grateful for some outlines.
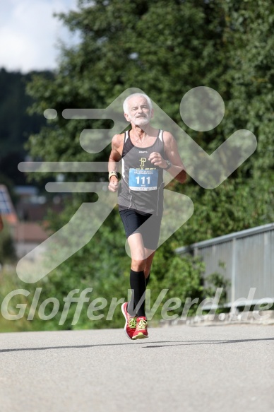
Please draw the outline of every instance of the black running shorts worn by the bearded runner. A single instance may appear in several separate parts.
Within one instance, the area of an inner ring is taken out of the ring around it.
[[[157,249],[162,216],[143,215],[131,209],[124,209],[119,213],[124,224],[126,238],[133,233],[141,233],[144,247],[152,250]]]

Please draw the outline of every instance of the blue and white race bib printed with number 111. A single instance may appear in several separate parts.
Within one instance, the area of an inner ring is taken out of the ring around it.
[[[157,190],[157,169],[129,169],[129,189]]]

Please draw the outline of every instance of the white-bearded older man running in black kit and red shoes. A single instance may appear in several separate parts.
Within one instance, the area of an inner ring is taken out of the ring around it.
[[[126,335],[135,340],[148,337],[144,298],[160,236],[163,170],[181,183],[186,180],[186,170],[172,134],[150,126],[153,107],[147,95],[130,95],[124,101],[123,109],[131,130],[113,136],[109,190],[118,190],[119,213],[131,250],[132,296],[121,310],[126,318]],[[120,184],[117,175],[119,160],[122,163]]]

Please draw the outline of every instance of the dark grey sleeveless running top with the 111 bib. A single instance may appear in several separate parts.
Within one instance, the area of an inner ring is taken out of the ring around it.
[[[148,160],[153,152],[160,153],[162,158],[165,158],[162,134],[163,131],[159,130],[152,146],[138,148],[131,141],[130,131],[125,132],[118,192],[119,211],[133,209],[141,214],[162,216],[163,169]]]

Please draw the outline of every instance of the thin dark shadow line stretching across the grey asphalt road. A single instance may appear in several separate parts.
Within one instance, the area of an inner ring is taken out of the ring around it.
[[[262,339],[232,339],[226,341],[160,341],[160,342],[150,342],[150,345],[142,346],[142,348],[165,348],[167,346],[194,346],[194,345],[223,345],[227,343],[245,343],[245,342],[258,342],[258,341],[274,341],[274,338],[262,338]],[[0,353],[4,352],[19,352],[19,351],[47,351],[48,349],[71,349],[71,348],[96,348],[100,346],[121,346],[121,345],[132,345],[134,343],[141,342],[131,342],[131,343],[101,343],[95,345],[72,345],[72,346],[46,346],[42,348],[12,348],[12,349],[0,349]],[[163,343],[162,345],[151,345],[151,343]],[[165,343],[171,343],[165,344]]]

